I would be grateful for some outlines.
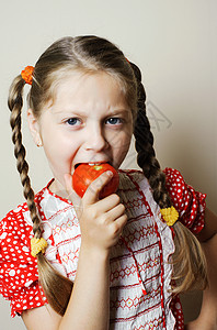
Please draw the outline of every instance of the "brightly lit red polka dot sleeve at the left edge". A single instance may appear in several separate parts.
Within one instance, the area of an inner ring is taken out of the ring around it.
[[[32,227],[25,205],[0,221],[0,294],[10,300],[11,316],[47,302],[38,286],[36,258],[30,252]]]

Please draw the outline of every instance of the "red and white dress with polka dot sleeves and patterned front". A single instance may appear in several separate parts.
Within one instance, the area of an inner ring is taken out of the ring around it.
[[[181,174],[165,168],[167,188],[180,221],[193,233],[204,226],[205,195],[186,185]],[[111,330],[184,329],[181,302],[170,293],[173,232],[161,218],[150,186],[139,170],[119,170],[117,194],[128,217],[123,239],[111,251]],[[48,243],[45,256],[64,276],[75,280],[81,233],[72,204],[49,190],[36,195]],[[31,255],[32,220],[26,204],[0,221],[0,293],[11,315],[44,306],[36,258]]]

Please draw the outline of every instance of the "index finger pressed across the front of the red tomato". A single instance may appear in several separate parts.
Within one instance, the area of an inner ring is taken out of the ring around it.
[[[83,202],[88,205],[96,202],[99,200],[100,191],[111,180],[112,177],[113,173],[111,170],[106,170],[102,173],[96,179],[94,179],[83,195]]]

